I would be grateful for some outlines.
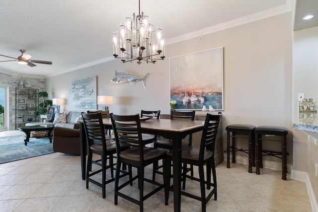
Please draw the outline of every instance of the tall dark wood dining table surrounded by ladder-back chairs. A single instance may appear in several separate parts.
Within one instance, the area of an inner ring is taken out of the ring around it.
[[[86,172],[86,135],[83,121],[79,121],[81,176],[85,180]],[[103,125],[112,129],[110,118],[103,119]],[[180,212],[181,205],[181,141],[187,135],[203,130],[204,121],[149,119],[141,121],[141,131],[145,134],[162,136],[172,141],[172,170],[173,170],[173,204],[174,211]]]

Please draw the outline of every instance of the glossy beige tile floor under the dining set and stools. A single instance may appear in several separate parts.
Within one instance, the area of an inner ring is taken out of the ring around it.
[[[151,167],[146,173],[151,176]],[[253,170],[254,171],[254,170]],[[108,173],[109,174],[109,173]],[[197,174],[197,173],[195,173]],[[281,180],[281,172],[262,169],[261,175],[248,173],[247,166],[226,162],[217,166],[218,200],[207,205],[211,212],[311,212],[305,182]],[[161,177],[158,177],[159,180]],[[137,183],[127,187],[130,196],[138,195]],[[149,189],[148,186],[145,186]],[[106,199],[101,189],[81,180],[80,157],[52,153],[0,164],[1,212],[137,212],[139,207],[119,197],[113,204],[113,184],[106,186]],[[186,190],[198,193],[198,184],[187,180]],[[173,194],[164,205],[163,191],[145,201],[149,212],[173,212]],[[182,212],[199,212],[199,201],[181,196]]]

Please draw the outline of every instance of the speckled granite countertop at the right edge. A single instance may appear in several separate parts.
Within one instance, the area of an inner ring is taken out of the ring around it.
[[[318,116],[316,113],[295,112],[292,116],[293,128],[295,130],[318,133]]]

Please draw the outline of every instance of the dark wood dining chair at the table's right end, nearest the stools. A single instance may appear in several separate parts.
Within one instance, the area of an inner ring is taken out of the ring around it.
[[[182,146],[181,153],[181,162],[183,164],[191,164],[198,166],[199,169],[199,178],[187,175],[187,172],[183,170],[182,172],[182,181],[185,182],[186,178],[200,182],[201,196],[191,194],[186,191],[181,191],[181,195],[193,198],[195,200],[201,201],[202,212],[206,212],[206,204],[214,195],[214,200],[217,200],[217,176],[215,169],[214,161],[214,148],[215,141],[217,138],[217,131],[220,122],[220,115],[211,115],[207,114],[205,119],[205,124],[202,132],[200,147],[194,147],[190,145]],[[173,155],[172,151],[167,152],[167,161],[166,161],[166,189],[165,189],[165,205],[168,205],[169,198],[169,186],[170,186],[170,174],[171,172],[171,157]],[[207,177],[205,180],[204,177],[204,165],[206,164]],[[211,170],[213,175],[213,183],[211,183]],[[205,185],[207,189],[210,190],[211,186],[213,187],[212,191],[206,196],[205,194]],[[170,187],[173,189],[173,185]],[[185,184],[184,188],[185,189]]]

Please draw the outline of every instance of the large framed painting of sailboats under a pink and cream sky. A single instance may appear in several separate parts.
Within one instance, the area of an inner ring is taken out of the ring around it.
[[[177,110],[224,110],[223,47],[170,58],[170,99]]]

